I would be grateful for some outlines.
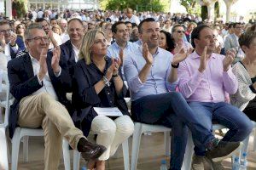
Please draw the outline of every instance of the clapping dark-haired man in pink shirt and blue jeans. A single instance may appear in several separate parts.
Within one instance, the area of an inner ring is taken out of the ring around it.
[[[250,119],[235,106],[224,102],[225,93],[235,94],[238,82],[231,71],[235,54],[214,54],[216,38],[209,26],[198,26],[191,34],[195,52],[180,63],[179,88],[189,102],[195,116],[212,130],[212,122],[218,122],[230,130],[224,141],[242,141],[251,133]],[[205,147],[195,146],[192,169],[204,169],[204,161],[211,161],[213,169],[223,169],[221,160],[206,156]]]

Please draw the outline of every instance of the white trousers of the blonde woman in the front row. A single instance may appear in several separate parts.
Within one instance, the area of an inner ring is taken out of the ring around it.
[[[96,116],[91,122],[90,130],[96,133],[96,144],[102,144],[107,150],[99,157],[99,160],[108,160],[109,156],[113,156],[122,144],[128,139],[134,130],[134,123],[130,116],[119,116],[115,120],[108,116]]]

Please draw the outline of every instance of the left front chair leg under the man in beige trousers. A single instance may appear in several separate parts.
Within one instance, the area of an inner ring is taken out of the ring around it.
[[[20,127],[15,129],[15,135],[12,139],[12,170],[17,170],[18,156],[20,150]]]

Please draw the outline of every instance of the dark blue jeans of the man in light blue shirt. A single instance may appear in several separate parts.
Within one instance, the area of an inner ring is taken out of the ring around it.
[[[182,94],[171,92],[148,95],[131,102],[131,117],[135,122],[172,127],[171,169],[181,169],[188,138],[188,127],[195,145],[205,145],[214,139],[201,124]]]

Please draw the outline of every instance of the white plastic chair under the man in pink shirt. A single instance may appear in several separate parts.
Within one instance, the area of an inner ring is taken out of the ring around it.
[[[220,124],[212,124],[212,133],[214,134],[215,130],[219,130],[219,129],[223,129],[223,128],[227,128],[227,127],[224,127],[223,125],[220,125]],[[192,134],[189,131],[186,152],[185,152],[185,156],[184,156],[184,160],[183,160],[183,169],[184,170],[188,170],[191,168],[193,153],[194,153],[194,143],[193,143],[193,139],[192,139]]]

